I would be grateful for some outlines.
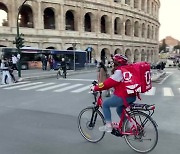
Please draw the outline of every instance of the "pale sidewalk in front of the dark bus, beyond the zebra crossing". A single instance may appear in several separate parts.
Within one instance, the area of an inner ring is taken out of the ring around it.
[[[82,70],[67,70],[67,76],[74,74],[83,74],[88,72],[96,73],[97,68],[84,68]],[[163,76],[165,71],[151,70],[152,81],[158,80]],[[28,80],[37,80],[37,79],[46,79],[46,78],[56,78],[57,70],[47,70],[43,71],[41,69],[31,69],[31,70],[21,70],[21,78],[18,77],[18,72],[14,71],[14,75],[18,81],[28,81]]]

